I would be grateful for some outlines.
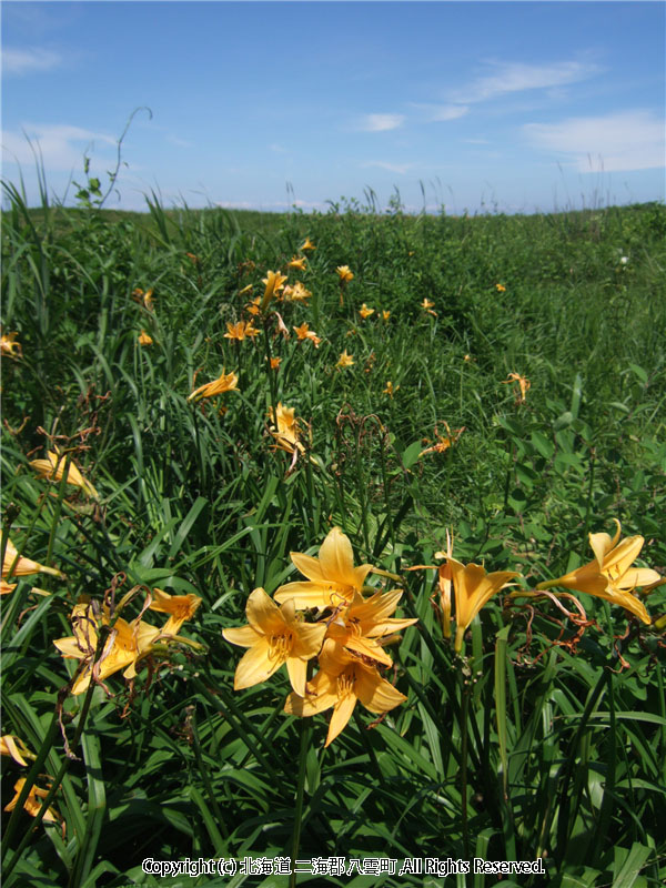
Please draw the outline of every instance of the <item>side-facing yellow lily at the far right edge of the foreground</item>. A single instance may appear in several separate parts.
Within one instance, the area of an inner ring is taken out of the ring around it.
[[[596,595],[597,598],[624,607],[645,624],[649,624],[650,618],[645,605],[632,593],[637,586],[659,583],[662,577],[650,567],[632,567],[645,541],[642,536],[627,536],[618,542],[622,525],[617,518],[614,521],[617,531],[613,539],[606,533],[589,534],[594,561],[557,579],[539,583],[536,588],[564,586],[576,592],[586,592],[588,595]]]

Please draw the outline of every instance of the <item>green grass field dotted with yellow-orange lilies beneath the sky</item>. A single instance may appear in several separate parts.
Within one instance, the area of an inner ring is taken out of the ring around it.
[[[6,888],[662,885],[666,209],[9,198]]]

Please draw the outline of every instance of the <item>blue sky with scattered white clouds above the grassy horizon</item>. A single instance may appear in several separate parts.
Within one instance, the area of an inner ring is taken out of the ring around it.
[[[662,2],[20,2],[2,167],[37,201],[82,157],[108,206],[551,212],[665,198]],[[287,192],[289,188],[289,192]],[[422,190],[423,189],[423,190]],[[69,202],[75,189],[69,188]]]

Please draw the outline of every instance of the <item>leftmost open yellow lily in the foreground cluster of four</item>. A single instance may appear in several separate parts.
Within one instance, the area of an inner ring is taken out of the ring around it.
[[[307,660],[319,654],[326,624],[303,623],[291,598],[278,607],[262,588],[254,589],[248,598],[245,614],[248,626],[222,630],[228,642],[250,648],[236,666],[234,690],[265,682],[286,664],[291,686],[303,696]]]

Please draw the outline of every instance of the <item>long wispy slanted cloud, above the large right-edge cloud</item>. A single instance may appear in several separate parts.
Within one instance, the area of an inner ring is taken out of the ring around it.
[[[509,92],[554,89],[586,80],[599,70],[595,64],[584,62],[555,62],[542,65],[497,62],[493,67],[494,73],[480,77],[462,90],[451,93],[452,101],[483,102]]]

